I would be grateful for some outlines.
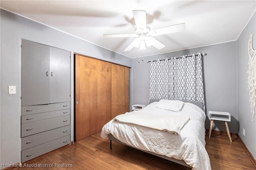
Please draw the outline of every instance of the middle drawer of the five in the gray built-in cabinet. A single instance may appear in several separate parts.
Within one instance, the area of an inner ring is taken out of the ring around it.
[[[21,124],[21,137],[70,125],[70,115]]]

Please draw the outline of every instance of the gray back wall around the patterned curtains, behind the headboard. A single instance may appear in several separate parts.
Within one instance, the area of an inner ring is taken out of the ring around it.
[[[146,61],[199,52],[207,53],[203,57],[206,113],[208,114],[209,110],[229,112],[232,116],[232,122],[228,123],[230,132],[238,133],[236,41],[150,57],[140,57],[140,63],[138,63],[138,59],[133,59],[132,104],[148,104],[150,63],[146,63]],[[206,129],[209,129],[209,122],[207,115]],[[222,121],[214,121],[213,129],[226,131]]]

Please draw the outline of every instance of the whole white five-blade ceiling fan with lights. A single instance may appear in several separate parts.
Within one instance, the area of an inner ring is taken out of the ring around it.
[[[137,47],[139,49],[146,49],[146,46],[153,46],[157,49],[162,49],[165,47],[164,44],[160,43],[152,36],[164,35],[169,33],[175,33],[184,31],[186,26],[185,23],[179,23],[176,25],[170,25],[167,27],[162,27],[158,29],[150,30],[150,27],[146,25],[146,11],[144,10],[133,10],[133,16],[136,24],[136,28],[134,33],[132,34],[104,34],[105,38],[112,37],[138,37],[124,50],[130,51],[133,47]]]

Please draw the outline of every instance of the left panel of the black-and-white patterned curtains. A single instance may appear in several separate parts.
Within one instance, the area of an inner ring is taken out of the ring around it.
[[[150,98],[173,98],[173,61],[157,60],[150,63]]]

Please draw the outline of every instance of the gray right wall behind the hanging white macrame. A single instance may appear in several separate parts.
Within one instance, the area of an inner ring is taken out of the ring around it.
[[[248,42],[253,33],[253,47],[256,49],[256,14],[240,35],[237,41],[237,66],[238,66],[238,120],[239,136],[242,138],[254,158],[256,158],[256,120],[252,121],[248,91]],[[245,130],[245,136],[243,135]]]

